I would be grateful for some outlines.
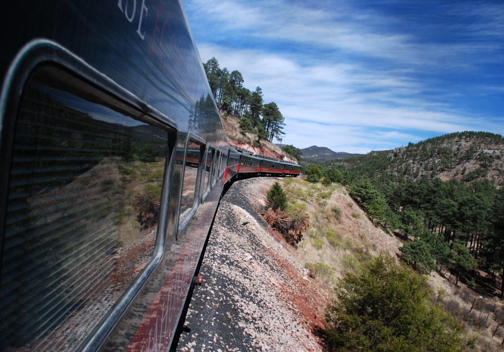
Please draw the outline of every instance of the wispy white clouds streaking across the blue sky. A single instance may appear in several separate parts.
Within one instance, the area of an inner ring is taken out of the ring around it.
[[[380,23],[396,18],[355,12],[345,2],[335,5],[338,11],[329,12],[322,5],[310,9],[280,0],[267,4],[193,0],[189,6],[195,21],[214,23],[215,40],[198,43],[202,59],[215,56],[221,67],[239,70],[249,89],[262,87],[265,101],[276,102],[286,118],[284,143],[299,147],[319,143],[337,151],[364,152],[415,142],[426,135],[504,131],[504,119],[492,121],[483,113],[470,116],[442,99],[448,96],[445,87],[433,83],[442,78],[422,81],[415,76],[431,69],[470,71],[476,61],[495,58],[468,57],[495,50],[498,43],[415,42],[411,35],[380,30]],[[483,27],[481,33],[494,29]],[[480,36],[478,28],[472,31]],[[246,45],[247,38],[255,38],[253,46]],[[258,44],[261,40],[264,45]],[[499,92],[502,88],[493,84],[485,89]],[[430,95],[424,94],[426,90]]]

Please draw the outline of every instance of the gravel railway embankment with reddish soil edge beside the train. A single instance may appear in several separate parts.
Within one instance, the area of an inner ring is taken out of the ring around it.
[[[179,351],[324,350],[330,290],[256,211],[274,181],[238,181],[221,199]]]

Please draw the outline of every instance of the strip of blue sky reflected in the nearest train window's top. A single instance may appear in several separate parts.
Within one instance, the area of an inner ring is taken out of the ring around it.
[[[95,120],[120,124],[128,127],[146,125],[144,122],[137,121],[129,116],[124,116],[121,113],[103,105],[88,102],[87,100],[79,98],[71,93],[60,91],[38,82],[32,82],[32,84],[40,91],[48,93],[51,98],[56,99],[75,110],[87,113]]]

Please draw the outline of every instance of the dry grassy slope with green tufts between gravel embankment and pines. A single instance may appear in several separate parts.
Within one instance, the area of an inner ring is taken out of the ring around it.
[[[305,212],[310,217],[306,235],[297,246],[298,260],[310,273],[314,271],[310,267],[314,263],[330,268],[323,275],[312,274],[328,290],[335,279],[347,272],[358,272],[361,262],[371,255],[388,252],[395,256],[399,252],[401,242],[376,228],[343,186],[325,187],[300,179],[285,179],[283,187],[289,202],[287,211]]]

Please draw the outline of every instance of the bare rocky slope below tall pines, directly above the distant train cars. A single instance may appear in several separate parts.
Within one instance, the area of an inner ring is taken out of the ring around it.
[[[297,164],[297,161],[284,153],[278,145],[267,140],[261,140],[261,143],[258,143],[257,138],[253,134],[241,133],[240,120],[238,118],[223,112],[220,114],[224,131],[231,145],[249,150],[254,154],[265,155]]]

